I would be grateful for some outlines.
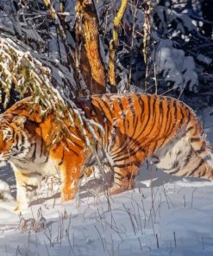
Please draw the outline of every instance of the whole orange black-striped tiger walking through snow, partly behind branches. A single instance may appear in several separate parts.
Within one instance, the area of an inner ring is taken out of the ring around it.
[[[22,99],[0,115],[0,162],[9,162],[15,172],[17,209],[28,208],[42,176],[56,173],[62,180],[61,200],[71,200],[81,171],[92,164],[94,150],[101,161],[106,154],[110,157],[111,195],[134,188],[139,166],[147,157],[176,176],[213,177],[210,144],[194,112],[177,99],[140,93],[77,99],[85,117],[105,131],[95,130],[99,143],[94,149],[85,145],[76,120],[74,126],[68,124],[72,137],[48,147],[49,135],[56,129],[54,113],[41,118],[41,106],[32,104],[30,98]],[[92,138],[91,131],[87,136]]]

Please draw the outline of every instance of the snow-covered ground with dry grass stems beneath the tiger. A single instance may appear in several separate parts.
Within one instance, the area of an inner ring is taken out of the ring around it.
[[[204,127],[213,144],[212,108],[204,112]],[[134,190],[97,195],[93,188],[102,184],[91,180],[81,186],[77,200],[60,202],[59,193],[43,193],[22,215],[13,210],[9,189],[16,194],[15,180],[4,168],[0,255],[213,255],[213,182],[168,176],[147,166]]]

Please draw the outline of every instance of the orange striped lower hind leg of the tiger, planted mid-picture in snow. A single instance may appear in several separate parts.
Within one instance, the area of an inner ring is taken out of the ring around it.
[[[110,195],[116,195],[124,191],[134,189],[135,176],[138,174],[138,166],[114,167],[114,184],[110,188]]]

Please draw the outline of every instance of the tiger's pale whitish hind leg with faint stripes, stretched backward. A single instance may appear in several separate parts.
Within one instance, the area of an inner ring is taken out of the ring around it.
[[[196,139],[187,137],[185,132],[179,132],[171,142],[163,148],[156,150],[152,156],[152,162],[157,168],[164,170],[173,176],[190,176],[213,179],[213,168],[204,159],[204,153],[208,153],[203,138]],[[204,147],[203,147],[204,145]],[[201,156],[197,151],[201,152]]]

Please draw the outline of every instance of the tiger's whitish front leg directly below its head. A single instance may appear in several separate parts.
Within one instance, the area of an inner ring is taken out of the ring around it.
[[[41,186],[41,176],[34,173],[22,173],[22,170],[15,170],[15,176],[17,189],[15,211],[28,210],[36,189]]]

